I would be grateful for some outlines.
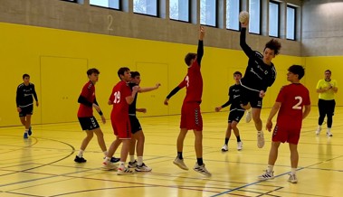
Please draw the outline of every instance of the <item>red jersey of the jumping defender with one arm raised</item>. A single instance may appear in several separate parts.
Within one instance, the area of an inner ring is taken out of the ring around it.
[[[200,72],[200,65],[195,60],[191,67],[188,68],[185,79],[178,85],[182,89],[186,87],[185,102],[198,102],[201,103],[203,95],[203,77]]]

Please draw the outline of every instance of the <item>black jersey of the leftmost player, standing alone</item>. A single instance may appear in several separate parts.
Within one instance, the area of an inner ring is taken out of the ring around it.
[[[33,83],[29,83],[28,86],[24,83],[20,84],[16,89],[16,107],[25,108],[33,105],[33,97],[38,101]]]

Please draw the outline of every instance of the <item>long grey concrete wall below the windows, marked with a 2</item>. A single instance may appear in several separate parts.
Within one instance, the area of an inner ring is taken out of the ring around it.
[[[161,12],[164,18],[133,14],[132,0],[124,0],[122,2],[126,2],[124,12],[91,6],[88,0],[83,0],[83,4],[74,4],[60,0],[1,0],[0,22],[21,23],[163,42],[196,44],[189,35],[198,28],[198,25],[169,20],[168,0],[165,1],[166,5],[162,8],[163,11]],[[219,2],[225,3],[224,0],[219,0]],[[295,5],[300,4],[297,0],[286,2]],[[266,1],[263,0],[263,4],[265,3]],[[223,12],[225,14],[225,11]],[[265,32],[265,30],[262,31],[263,34],[266,34]],[[300,35],[300,33],[298,34]],[[238,32],[228,31],[225,28],[207,28],[207,46],[241,50],[238,39]],[[248,42],[252,49],[258,51],[262,51],[264,43],[269,40],[270,37],[263,35],[248,36]],[[282,54],[301,56],[300,42],[281,39],[281,44]]]

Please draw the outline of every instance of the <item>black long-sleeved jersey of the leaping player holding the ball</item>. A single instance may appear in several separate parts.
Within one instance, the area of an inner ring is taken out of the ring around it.
[[[241,80],[241,84],[246,89],[255,91],[264,90],[271,87],[276,78],[276,70],[274,64],[267,65],[263,62],[263,56],[260,52],[252,51],[252,49],[245,42],[246,28],[241,30],[240,44],[248,56],[248,66],[246,67],[244,77]]]

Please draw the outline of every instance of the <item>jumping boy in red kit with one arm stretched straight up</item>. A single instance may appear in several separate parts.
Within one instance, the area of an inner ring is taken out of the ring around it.
[[[195,154],[196,160],[194,170],[195,172],[211,176],[206,170],[203,163],[203,118],[200,112],[201,97],[203,94],[203,78],[200,72],[200,63],[204,54],[204,39],[205,28],[200,27],[199,42],[197,47],[197,54],[188,53],[185,57],[188,71],[185,79],[173,89],[165,99],[165,105],[168,105],[168,100],[180,89],[186,87],[186,97],[181,109],[181,123],[180,133],[177,137],[177,156],[174,164],[183,170],[188,170],[184,163],[182,151],[184,147],[184,140],[188,130],[192,129],[195,134]]]

